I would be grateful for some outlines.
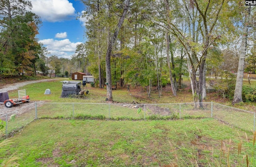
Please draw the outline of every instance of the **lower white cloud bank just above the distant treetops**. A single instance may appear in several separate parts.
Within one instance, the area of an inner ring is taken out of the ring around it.
[[[76,51],[76,45],[82,42],[72,43],[69,39],[54,40],[43,39],[39,41],[43,43],[44,47],[50,52],[50,55],[56,55],[58,57],[70,58]],[[50,56],[49,55],[49,56]]]

